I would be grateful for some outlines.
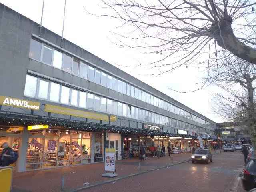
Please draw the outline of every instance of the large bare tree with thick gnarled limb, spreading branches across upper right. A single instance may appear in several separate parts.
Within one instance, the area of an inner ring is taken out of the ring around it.
[[[100,1],[107,12],[101,9],[93,14],[119,19],[122,28],[128,26],[125,29],[130,31],[118,33],[120,45],[159,53],[152,62],[139,65],[160,63],[160,74],[195,60],[218,62],[223,50],[256,64],[256,0]]]

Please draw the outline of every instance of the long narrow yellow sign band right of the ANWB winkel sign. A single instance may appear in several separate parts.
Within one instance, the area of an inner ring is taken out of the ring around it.
[[[76,117],[108,121],[108,115],[102,115],[102,114],[93,113],[93,112],[70,109],[70,108],[65,108],[65,107],[60,107],[60,106],[55,106],[55,105],[46,104],[44,110],[46,112],[51,112],[51,113],[58,113],[58,114],[64,114],[64,115],[72,115],[72,116],[76,116]]]

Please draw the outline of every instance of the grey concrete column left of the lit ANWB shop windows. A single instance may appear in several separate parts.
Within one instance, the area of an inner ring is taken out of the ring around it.
[[[20,141],[19,158],[17,161],[17,172],[26,171],[26,154],[28,150],[28,129],[24,128]]]

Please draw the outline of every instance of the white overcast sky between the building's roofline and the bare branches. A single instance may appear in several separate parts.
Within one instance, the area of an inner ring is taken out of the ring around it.
[[[66,17],[64,38],[81,46],[92,54],[106,60],[110,64],[121,68],[132,76],[142,80],[150,86],[164,92],[168,96],[178,100],[202,115],[222,122],[222,118],[212,112],[214,101],[213,91],[216,88],[209,86],[193,93],[180,94],[180,92],[195,90],[198,88],[199,77],[202,76],[198,69],[192,66],[183,66],[172,73],[162,76],[152,76],[158,73],[157,69],[145,67],[121,67],[138,64],[145,54],[138,50],[128,48],[116,48],[113,43],[115,36],[113,31],[120,23],[110,18],[92,16],[84,11],[84,6],[90,12],[98,12],[98,0],[66,0]],[[20,14],[40,23],[43,0],[0,0],[0,2]],[[53,32],[62,34],[62,22],[64,12],[64,0],[45,0],[42,25]],[[120,29],[119,29],[120,31]],[[151,55],[152,57],[152,55]]]

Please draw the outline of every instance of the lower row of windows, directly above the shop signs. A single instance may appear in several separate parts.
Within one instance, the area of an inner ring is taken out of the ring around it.
[[[108,114],[134,118],[146,122],[184,128],[195,132],[206,132],[205,128],[202,127],[162,116],[121,102],[116,102],[95,94],[75,90],[62,84],[50,82],[31,75],[26,76],[24,95],[70,106],[106,112]]]

